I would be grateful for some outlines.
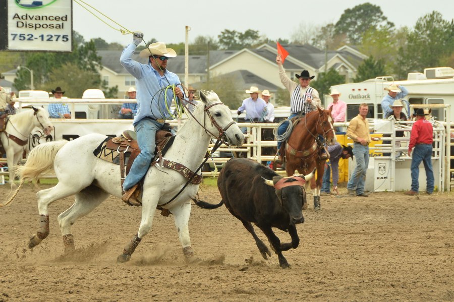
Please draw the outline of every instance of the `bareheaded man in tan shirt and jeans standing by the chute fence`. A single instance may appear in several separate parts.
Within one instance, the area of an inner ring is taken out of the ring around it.
[[[367,166],[369,165],[369,143],[372,140],[369,133],[369,123],[366,119],[368,112],[369,106],[362,103],[359,106],[359,114],[350,120],[350,126],[347,129],[347,136],[354,142],[353,154],[356,158],[355,170],[347,184],[349,195],[369,196],[364,193]]]

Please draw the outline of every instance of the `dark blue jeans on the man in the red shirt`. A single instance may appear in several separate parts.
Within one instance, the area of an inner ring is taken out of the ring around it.
[[[434,187],[434,178],[432,170],[432,145],[422,144],[416,145],[413,149],[413,158],[412,158],[412,191],[419,192],[419,164],[421,161],[424,163],[424,169],[426,170],[427,178],[427,189],[429,193],[433,192]]]

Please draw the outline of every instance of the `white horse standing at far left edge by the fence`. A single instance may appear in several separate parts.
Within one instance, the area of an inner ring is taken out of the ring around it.
[[[30,133],[35,127],[41,128],[45,135],[53,130],[49,121],[49,112],[44,108],[23,110],[14,115],[8,115],[5,131],[0,132],[0,139],[5,149],[10,173],[10,184],[14,185],[14,167],[19,163],[25,147],[28,144]]]

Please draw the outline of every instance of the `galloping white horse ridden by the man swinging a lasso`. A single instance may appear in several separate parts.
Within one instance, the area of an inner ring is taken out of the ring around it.
[[[181,163],[191,171],[196,171],[201,165],[211,137],[223,137],[226,142],[236,146],[241,146],[244,139],[243,133],[232,120],[229,107],[219,101],[216,93],[201,91],[200,99],[201,102],[193,113],[195,119],[189,118],[181,127],[172,147],[165,154],[165,159]],[[44,143],[30,152],[26,164],[18,170],[21,175],[20,186],[6,204],[14,199],[26,179],[36,179],[52,166],[59,183],[36,194],[40,227],[30,238],[29,248],[37,246],[49,234],[48,206],[52,202],[76,195],[74,204],[58,217],[65,253],[68,253],[75,249],[71,227],[76,220],[90,213],[109,194],[119,198],[122,196],[120,166],[93,155],[93,150],[105,138],[104,135],[90,134],[71,142]],[[199,185],[187,186],[178,197],[167,203],[186,183],[187,179],[175,170],[159,165],[148,169],[143,184],[139,231],[118,257],[119,262],[128,261],[140,240],[150,231],[158,206],[168,209],[174,215],[183,253],[186,259],[193,256],[188,227],[190,200],[196,195]]]

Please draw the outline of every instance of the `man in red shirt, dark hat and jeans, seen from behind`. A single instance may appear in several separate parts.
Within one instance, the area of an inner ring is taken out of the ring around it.
[[[433,128],[432,124],[425,119],[424,109],[418,108],[416,110],[416,122],[413,124],[412,134],[410,136],[410,144],[408,145],[408,156],[412,155],[412,189],[405,192],[406,195],[419,194],[419,164],[421,161],[424,163],[427,179],[427,194],[433,193],[434,178],[432,170],[432,142],[433,142]]]

